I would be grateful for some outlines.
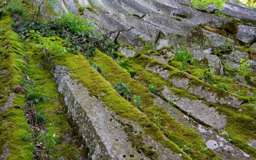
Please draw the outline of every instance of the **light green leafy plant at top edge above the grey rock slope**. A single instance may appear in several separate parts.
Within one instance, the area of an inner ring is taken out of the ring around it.
[[[212,8],[212,5],[218,6],[217,9],[223,9],[223,4],[227,0],[190,0],[198,10]]]

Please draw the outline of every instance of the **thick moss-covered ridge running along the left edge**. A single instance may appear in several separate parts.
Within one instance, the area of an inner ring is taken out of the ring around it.
[[[9,25],[13,23],[11,15],[6,15],[0,20],[3,31],[0,34],[0,70],[7,70],[5,74],[0,73],[0,107],[8,101],[13,86],[17,85],[24,70],[23,50],[24,45]],[[15,93],[13,105],[0,113],[0,153],[9,152],[6,159],[10,160],[32,160],[34,146],[23,141],[24,136],[30,133],[30,128],[25,119],[22,107],[25,106],[25,95]],[[25,119],[25,120],[24,120]]]

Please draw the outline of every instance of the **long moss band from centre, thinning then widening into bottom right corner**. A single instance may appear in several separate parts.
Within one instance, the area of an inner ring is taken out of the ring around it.
[[[156,82],[157,87],[159,87],[160,90],[163,88],[163,86],[167,86],[170,91],[174,92],[176,95],[180,97],[189,98],[191,100],[201,100],[204,103],[206,103],[209,107],[214,107],[219,114],[226,115],[227,124],[231,124],[231,126],[226,126],[225,130],[234,140],[232,143],[239,147],[240,149],[242,149],[243,151],[246,151],[247,154],[256,157],[256,150],[248,145],[248,142],[251,139],[256,139],[256,111],[251,103],[248,102],[241,105],[239,108],[242,109],[242,111],[239,111],[239,108],[232,107],[227,104],[223,105],[219,103],[207,102],[198,96],[193,96],[189,94],[188,91],[185,89],[178,89],[172,87],[170,82],[167,79],[164,79],[161,76],[159,76],[158,73],[152,73],[151,71],[146,70],[145,67],[141,67],[140,61],[137,61],[136,59],[131,59],[130,62],[130,66],[136,72],[136,74],[139,76],[139,79],[144,84],[150,85]]]

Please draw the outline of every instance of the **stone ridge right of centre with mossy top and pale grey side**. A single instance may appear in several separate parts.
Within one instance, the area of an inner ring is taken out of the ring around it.
[[[212,102],[230,103],[230,105],[239,107],[241,103],[248,101],[247,98],[234,95],[223,89],[215,88],[207,83],[200,81],[197,77],[192,76],[184,71],[179,71],[172,66],[156,61],[155,59],[138,53],[132,58],[137,61],[142,67],[154,72],[162,72],[160,75],[169,79],[176,87],[188,89],[190,93],[196,94]],[[168,77],[167,77],[168,76]],[[199,89],[202,92],[197,92]],[[209,94],[211,97],[209,97]],[[212,98],[215,97],[215,98]]]

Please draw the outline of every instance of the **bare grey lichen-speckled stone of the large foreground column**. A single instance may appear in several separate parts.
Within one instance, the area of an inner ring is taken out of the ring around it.
[[[49,60],[51,61],[50,58]],[[68,115],[79,126],[79,132],[90,149],[91,158],[95,160],[134,158],[149,160],[148,157],[139,154],[136,148],[132,147],[131,142],[126,139],[125,126],[122,127],[120,122],[131,124],[138,134],[143,130],[136,123],[115,115],[96,97],[90,97],[86,88],[80,83],[77,84],[76,79],[70,78],[71,73],[67,69],[65,66],[55,66],[53,68],[54,79],[58,84],[58,91],[65,96]],[[172,154],[172,151],[163,148],[151,137],[144,134],[142,136],[145,139],[145,144],[156,148],[154,150],[158,152],[159,159],[182,159],[179,154]]]

